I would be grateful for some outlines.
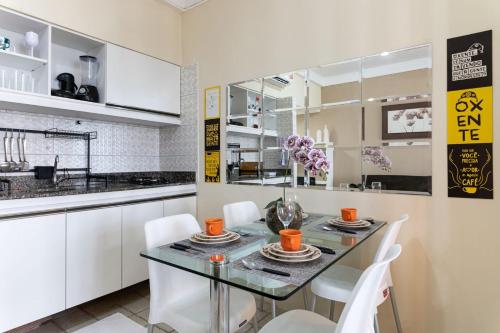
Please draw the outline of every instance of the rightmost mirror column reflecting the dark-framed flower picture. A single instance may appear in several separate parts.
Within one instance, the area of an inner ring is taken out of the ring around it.
[[[431,193],[431,47],[363,59],[363,185]]]

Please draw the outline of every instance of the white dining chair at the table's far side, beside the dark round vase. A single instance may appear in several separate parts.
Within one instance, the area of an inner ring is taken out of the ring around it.
[[[260,211],[253,201],[240,201],[234,202],[223,207],[224,211],[224,224],[227,228],[238,227],[244,224],[249,224],[260,220]],[[270,284],[267,283],[267,288],[281,288],[286,286],[286,283],[275,281]],[[307,308],[307,295],[306,290],[303,288],[302,295],[304,299],[304,307]],[[263,300],[264,298],[261,298]],[[261,308],[263,304],[261,304]],[[276,301],[271,300],[271,313],[273,318],[276,317]]]

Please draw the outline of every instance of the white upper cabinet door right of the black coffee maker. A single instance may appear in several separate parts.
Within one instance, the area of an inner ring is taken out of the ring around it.
[[[180,67],[107,44],[106,103],[180,114]]]

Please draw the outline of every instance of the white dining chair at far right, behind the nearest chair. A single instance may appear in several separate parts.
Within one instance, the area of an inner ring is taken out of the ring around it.
[[[408,215],[402,215],[399,220],[392,222],[384,237],[380,241],[377,253],[373,259],[373,262],[379,262],[383,260],[389,248],[396,243],[396,239],[401,229],[401,225],[408,220]],[[311,291],[313,293],[311,300],[311,310],[314,311],[316,305],[316,296],[320,296],[330,300],[330,320],[333,320],[335,312],[335,302],[346,303],[350,298],[351,293],[361,276],[362,271],[350,267],[350,266],[333,266],[332,269],[327,270],[320,276],[315,278],[311,283]],[[388,291],[387,291],[388,290]],[[392,283],[392,277],[390,269],[380,284],[379,292],[377,298],[377,306],[382,304],[388,297],[391,298],[392,310],[394,313],[394,320],[396,322],[396,328],[398,333],[401,333],[401,322],[399,319],[398,308],[396,304],[396,296],[394,292],[394,286]],[[378,332],[378,320],[375,314],[375,331]]]

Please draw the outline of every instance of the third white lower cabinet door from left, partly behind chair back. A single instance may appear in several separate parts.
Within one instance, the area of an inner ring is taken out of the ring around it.
[[[163,217],[163,202],[154,201],[122,207],[122,288],[148,279],[148,262],[139,253],[146,249],[144,225]]]

